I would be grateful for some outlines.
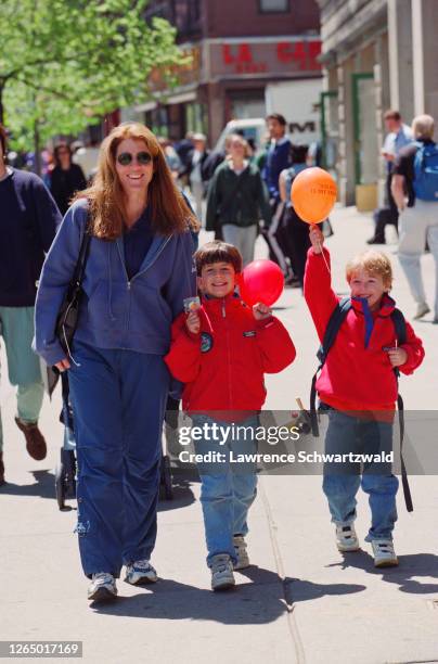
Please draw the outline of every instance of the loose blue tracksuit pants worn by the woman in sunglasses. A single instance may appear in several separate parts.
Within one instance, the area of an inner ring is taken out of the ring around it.
[[[163,358],[75,343],[68,371],[78,460],[79,550],[87,576],[149,559],[156,538]]]

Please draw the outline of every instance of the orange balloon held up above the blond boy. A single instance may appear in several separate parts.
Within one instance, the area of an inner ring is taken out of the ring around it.
[[[336,182],[323,168],[305,168],[292,183],[291,201],[298,217],[307,224],[320,224],[336,203]]]

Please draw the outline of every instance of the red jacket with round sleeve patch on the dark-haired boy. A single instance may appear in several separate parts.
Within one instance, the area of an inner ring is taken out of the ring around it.
[[[263,373],[295,359],[295,346],[274,317],[256,321],[239,297],[203,298],[201,332],[191,334],[185,314],[172,325],[165,361],[185,383],[182,406],[190,411],[259,410],[266,399]]]

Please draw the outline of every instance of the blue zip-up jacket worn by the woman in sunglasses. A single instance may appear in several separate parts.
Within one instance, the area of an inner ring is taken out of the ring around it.
[[[57,312],[73,277],[87,224],[87,202],[67,212],[46,258],[36,302],[35,349],[48,365],[65,357],[55,336]],[[196,293],[193,241],[188,230],[155,235],[140,271],[128,279],[124,239],[92,238],[75,340],[98,348],[165,355],[183,298]]]

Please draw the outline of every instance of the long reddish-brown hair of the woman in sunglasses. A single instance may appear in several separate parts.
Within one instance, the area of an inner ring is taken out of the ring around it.
[[[147,190],[147,202],[151,205],[154,231],[170,235],[183,232],[188,226],[198,230],[199,224],[176,187],[155,136],[140,123],[124,123],[115,127],[102,142],[94,180],[75,197],[75,201],[87,199],[89,202],[93,235],[115,240],[124,231],[125,194],[116,171],[116,153],[118,144],[125,139],[143,141],[153,157],[154,175]]]

